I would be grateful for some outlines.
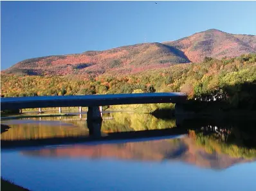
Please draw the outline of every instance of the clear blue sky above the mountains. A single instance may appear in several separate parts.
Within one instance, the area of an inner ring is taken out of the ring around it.
[[[215,28],[256,35],[256,1],[2,1],[1,69],[24,59],[177,40]]]

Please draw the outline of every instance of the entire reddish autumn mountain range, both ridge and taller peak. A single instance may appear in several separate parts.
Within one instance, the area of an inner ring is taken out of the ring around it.
[[[247,53],[256,53],[256,36],[233,35],[209,29],[172,42],[135,44],[106,51],[32,58],[23,60],[4,72],[28,75],[132,74],[177,63],[201,62],[205,56],[223,58]]]

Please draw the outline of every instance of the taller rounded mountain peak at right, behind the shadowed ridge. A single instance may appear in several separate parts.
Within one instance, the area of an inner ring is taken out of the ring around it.
[[[183,51],[192,62],[201,62],[205,56],[221,59],[241,54],[256,53],[256,36],[233,35],[217,29],[208,29],[190,37],[163,44]]]

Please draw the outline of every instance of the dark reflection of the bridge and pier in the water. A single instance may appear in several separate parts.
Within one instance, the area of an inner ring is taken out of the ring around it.
[[[128,131],[118,133],[107,133],[102,135],[102,120],[87,120],[87,127],[89,128],[89,136],[78,137],[53,137],[41,139],[28,139],[28,140],[1,140],[1,149],[17,148],[17,147],[38,147],[50,145],[69,145],[83,142],[94,141],[109,141],[120,140],[127,142],[127,140],[142,139],[142,138],[161,138],[173,136],[178,138],[180,135],[186,134],[187,130],[183,128],[167,128],[167,129],[154,129],[143,131]]]

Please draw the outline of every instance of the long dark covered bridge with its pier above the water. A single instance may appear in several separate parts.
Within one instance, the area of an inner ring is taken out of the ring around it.
[[[118,104],[183,103],[187,95],[175,93],[64,95],[1,98],[1,111],[24,108],[88,107],[87,120],[102,120],[101,106]],[[176,107],[177,109],[178,107]]]

